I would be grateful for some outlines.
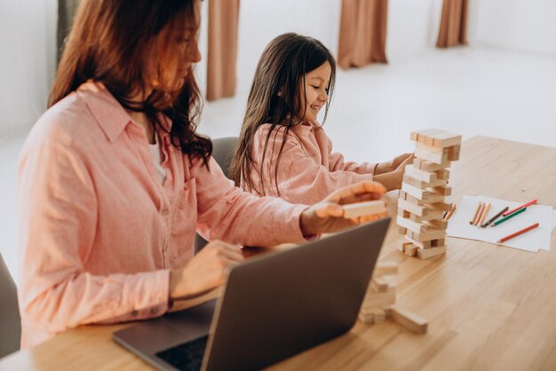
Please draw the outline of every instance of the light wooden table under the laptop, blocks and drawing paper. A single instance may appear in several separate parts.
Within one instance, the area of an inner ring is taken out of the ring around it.
[[[481,194],[555,207],[556,148],[474,137],[449,183],[450,201]],[[347,335],[271,369],[556,369],[556,233],[552,250],[538,253],[449,238],[448,253],[431,260],[401,254],[400,238],[391,225],[380,259],[401,264],[397,304],[427,319],[428,334],[357,322]],[[68,331],[2,359],[0,369],[150,369],[112,342],[125,326]]]

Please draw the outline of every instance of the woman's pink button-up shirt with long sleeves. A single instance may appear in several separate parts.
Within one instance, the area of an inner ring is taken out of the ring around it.
[[[102,84],[84,83],[36,122],[19,167],[22,347],[167,312],[169,272],[194,256],[195,231],[303,241],[306,206],[244,193],[214,160],[207,170],[159,134],[162,185],[144,130]]]

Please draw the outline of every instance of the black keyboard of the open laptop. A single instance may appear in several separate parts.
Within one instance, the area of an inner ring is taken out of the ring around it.
[[[156,357],[163,359],[179,370],[200,370],[208,339],[209,335],[199,337],[191,342],[179,344],[165,351],[159,351],[156,353]]]

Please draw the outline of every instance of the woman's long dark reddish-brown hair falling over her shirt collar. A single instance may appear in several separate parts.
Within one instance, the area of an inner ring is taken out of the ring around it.
[[[160,114],[170,118],[172,144],[208,166],[212,143],[195,133],[202,99],[191,65],[179,91],[154,90],[142,104],[128,99],[145,91],[144,61],[155,37],[166,29],[196,30],[196,23],[193,0],[83,0],[60,59],[49,107],[87,80],[103,83],[124,108],[144,112],[163,130],[168,131]],[[170,37],[168,32],[164,46]],[[161,51],[159,70],[170,52],[167,47]]]

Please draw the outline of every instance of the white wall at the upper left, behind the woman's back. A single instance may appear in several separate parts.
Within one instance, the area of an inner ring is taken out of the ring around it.
[[[0,131],[44,112],[55,66],[56,0],[0,2]]]

